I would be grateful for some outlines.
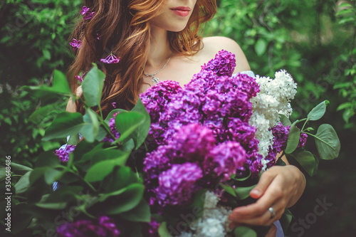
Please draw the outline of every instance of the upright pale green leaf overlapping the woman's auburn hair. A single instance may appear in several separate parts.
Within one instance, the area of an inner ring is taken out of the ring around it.
[[[89,107],[100,105],[105,73],[98,69],[98,65],[93,64],[93,68],[85,75],[82,88],[85,102]]]

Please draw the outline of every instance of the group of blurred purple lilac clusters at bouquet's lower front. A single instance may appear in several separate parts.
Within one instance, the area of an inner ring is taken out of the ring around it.
[[[184,206],[195,191],[229,179],[244,164],[246,152],[239,142],[216,144],[209,128],[184,125],[174,139],[145,157],[150,205],[157,211],[167,205]]]

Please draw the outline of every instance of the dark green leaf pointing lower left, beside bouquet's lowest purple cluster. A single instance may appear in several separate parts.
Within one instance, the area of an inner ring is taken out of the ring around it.
[[[110,199],[115,201],[115,205],[110,206],[105,211],[106,214],[120,214],[135,208],[135,206],[140,203],[144,190],[145,186],[143,184],[131,184],[130,186],[127,186],[125,192]]]

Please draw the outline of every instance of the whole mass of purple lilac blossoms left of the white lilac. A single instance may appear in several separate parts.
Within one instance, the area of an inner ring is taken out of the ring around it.
[[[182,88],[166,80],[140,95],[151,117],[144,159],[150,206],[184,206],[198,189],[251,169],[261,171],[256,128],[248,125],[254,78],[232,76],[235,56],[220,51]]]

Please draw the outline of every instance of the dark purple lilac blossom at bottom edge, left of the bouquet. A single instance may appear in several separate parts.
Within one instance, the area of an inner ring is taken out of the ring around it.
[[[108,216],[100,216],[98,220],[78,220],[64,223],[57,227],[59,237],[117,237],[120,231]]]

